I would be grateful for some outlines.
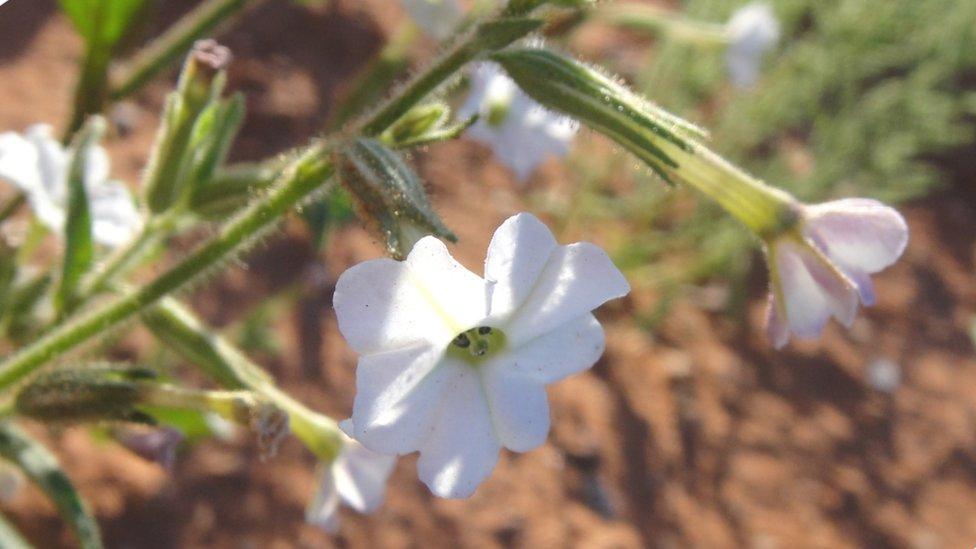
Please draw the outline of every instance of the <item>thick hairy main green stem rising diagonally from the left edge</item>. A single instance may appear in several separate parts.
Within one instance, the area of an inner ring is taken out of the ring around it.
[[[494,25],[496,22],[503,24]],[[489,20],[479,25],[458,46],[419,73],[399,95],[368,117],[358,126],[360,131],[352,131],[351,135],[380,134],[482,50],[504,47],[538,26],[531,21],[528,22],[530,24],[516,23],[512,25],[508,21]],[[479,32],[481,29],[485,29],[486,33]],[[505,34],[501,35],[499,31]],[[256,241],[292,207],[307,199],[330,179],[333,171],[328,160],[330,147],[331,143],[326,141],[314,142],[285,170],[262,200],[254,202],[182,262],[152,282],[125,292],[87,315],[61,324],[0,362],[0,389],[10,387],[45,363],[146,310]]]

